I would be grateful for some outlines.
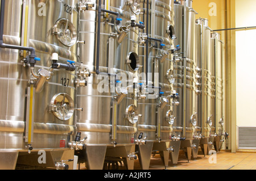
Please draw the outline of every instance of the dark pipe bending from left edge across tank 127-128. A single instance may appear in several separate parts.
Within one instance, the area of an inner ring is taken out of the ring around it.
[[[35,66],[36,63],[36,55],[35,55],[35,48],[33,47],[22,47],[18,45],[9,45],[3,43],[3,24],[4,24],[4,16],[5,16],[5,0],[1,1],[1,14],[0,14],[0,48],[10,48],[10,49],[18,49],[18,50],[26,50],[28,52],[31,52],[30,54],[30,60],[28,61],[30,63],[31,67]]]

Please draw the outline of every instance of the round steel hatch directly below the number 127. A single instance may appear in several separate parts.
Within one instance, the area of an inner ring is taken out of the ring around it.
[[[49,111],[57,117],[57,119],[66,121],[73,116],[75,103],[71,96],[66,93],[60,93],[53,96]]]

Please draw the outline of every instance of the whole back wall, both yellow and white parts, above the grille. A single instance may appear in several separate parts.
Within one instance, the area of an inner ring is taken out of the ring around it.
[[[193,0],[197,18],[209,19],[212,30],[256,26],[255,7],[255,0]],[[228,148],[236,152],[237,127],[256,127],[256,28],[219,32],[226,47]]]

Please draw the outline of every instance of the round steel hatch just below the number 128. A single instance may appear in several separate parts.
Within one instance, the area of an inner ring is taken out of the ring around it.
[[[76,44],[76,28],[68,19],[62,18],[57,20],[55,26],[52,28],[52,33],[56,35],[60,43],[67,47],[72,47],[74,44]]]

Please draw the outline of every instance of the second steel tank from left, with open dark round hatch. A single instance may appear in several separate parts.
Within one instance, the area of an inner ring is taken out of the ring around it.
[[[79,57],[91,75],[77,90],[83,111],[76,126],[86,140],[76,152],[88,169],[121,158],[133,169],[135,145],[144,142],[137,128],[140,9],[133,1],[80,1],[80,9]]]

